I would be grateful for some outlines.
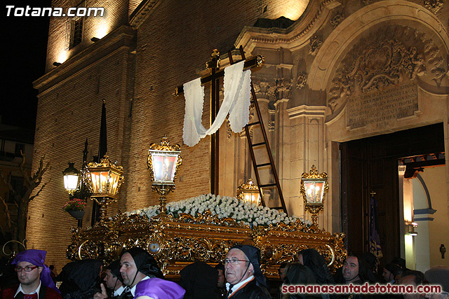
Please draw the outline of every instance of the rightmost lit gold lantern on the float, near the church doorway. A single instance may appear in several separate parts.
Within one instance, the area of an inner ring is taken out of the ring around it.
[[[311,166],[309,173],[304,172],[301,178],[301,194],[304,198],[305,210],[311,214],[311,221],[317,225],[318,214],[323,210],[324,197],[328,192],[328,174],[321,174],[316,170],[315,165]]]

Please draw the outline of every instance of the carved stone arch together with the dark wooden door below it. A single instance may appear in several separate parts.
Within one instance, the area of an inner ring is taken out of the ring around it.
[[[321,95],[326,103],[326,142],[340,144],[327,157],[340,165],[340,186],[334,182],[331,192],[341,200],[347,249],[368,249],[373,191],[382,199],[382,265],[403,256],[397,158],[433,151],[429,144],[448,148],[449,80],[436,71],[447,72],[448,48],[448,32],[431,11],[409,1],[380,1],[336,27],[311,65],[309,96]],[[432,141],[417,145],[430,135]]]

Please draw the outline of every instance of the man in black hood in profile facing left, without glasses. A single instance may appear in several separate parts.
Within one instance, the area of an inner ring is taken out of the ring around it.
[[[120,274],[123,284],[126,286],[125,291],[121,293],[121,299],[134,298],[135,285],[142,280],[154,277],[163,279],[161,268],[157,265],[156,260],[148,251],[140,247],[123,252],[120,264]]]

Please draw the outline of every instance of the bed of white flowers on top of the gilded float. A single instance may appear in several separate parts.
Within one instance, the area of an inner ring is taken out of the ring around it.
[[[180,214],[190,214],[198,216],[209,210],[218,218],[234,218],[237,222],[250,226],[257,225],[276,225],[278,223],[291,224],[299,219],[302,223],[310,226],[311,221],[304,221],[303,218],[297,216],[288,217],[286,213],[280,212],[269,207],[257,206],[238,200],[236,197],[220,196],[220,195],[199,195],[196,197],[181,200],[179,202],[169,202],[166,204],[167,214],[177,218]],[[159,205],[126,212],[128,216],[131,214],[139,214],[152,218],[159,214]]]

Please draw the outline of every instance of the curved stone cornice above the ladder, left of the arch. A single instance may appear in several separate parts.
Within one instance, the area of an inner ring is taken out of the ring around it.
[[[342,4],[336,0],[310,1],[304,14],[287,29],[244,27],[235,46],[243,46],[251,53],[256,46],[262,48],[288,48],[295,50],[308,44],[309,39],[330,19],[333,9]]]

